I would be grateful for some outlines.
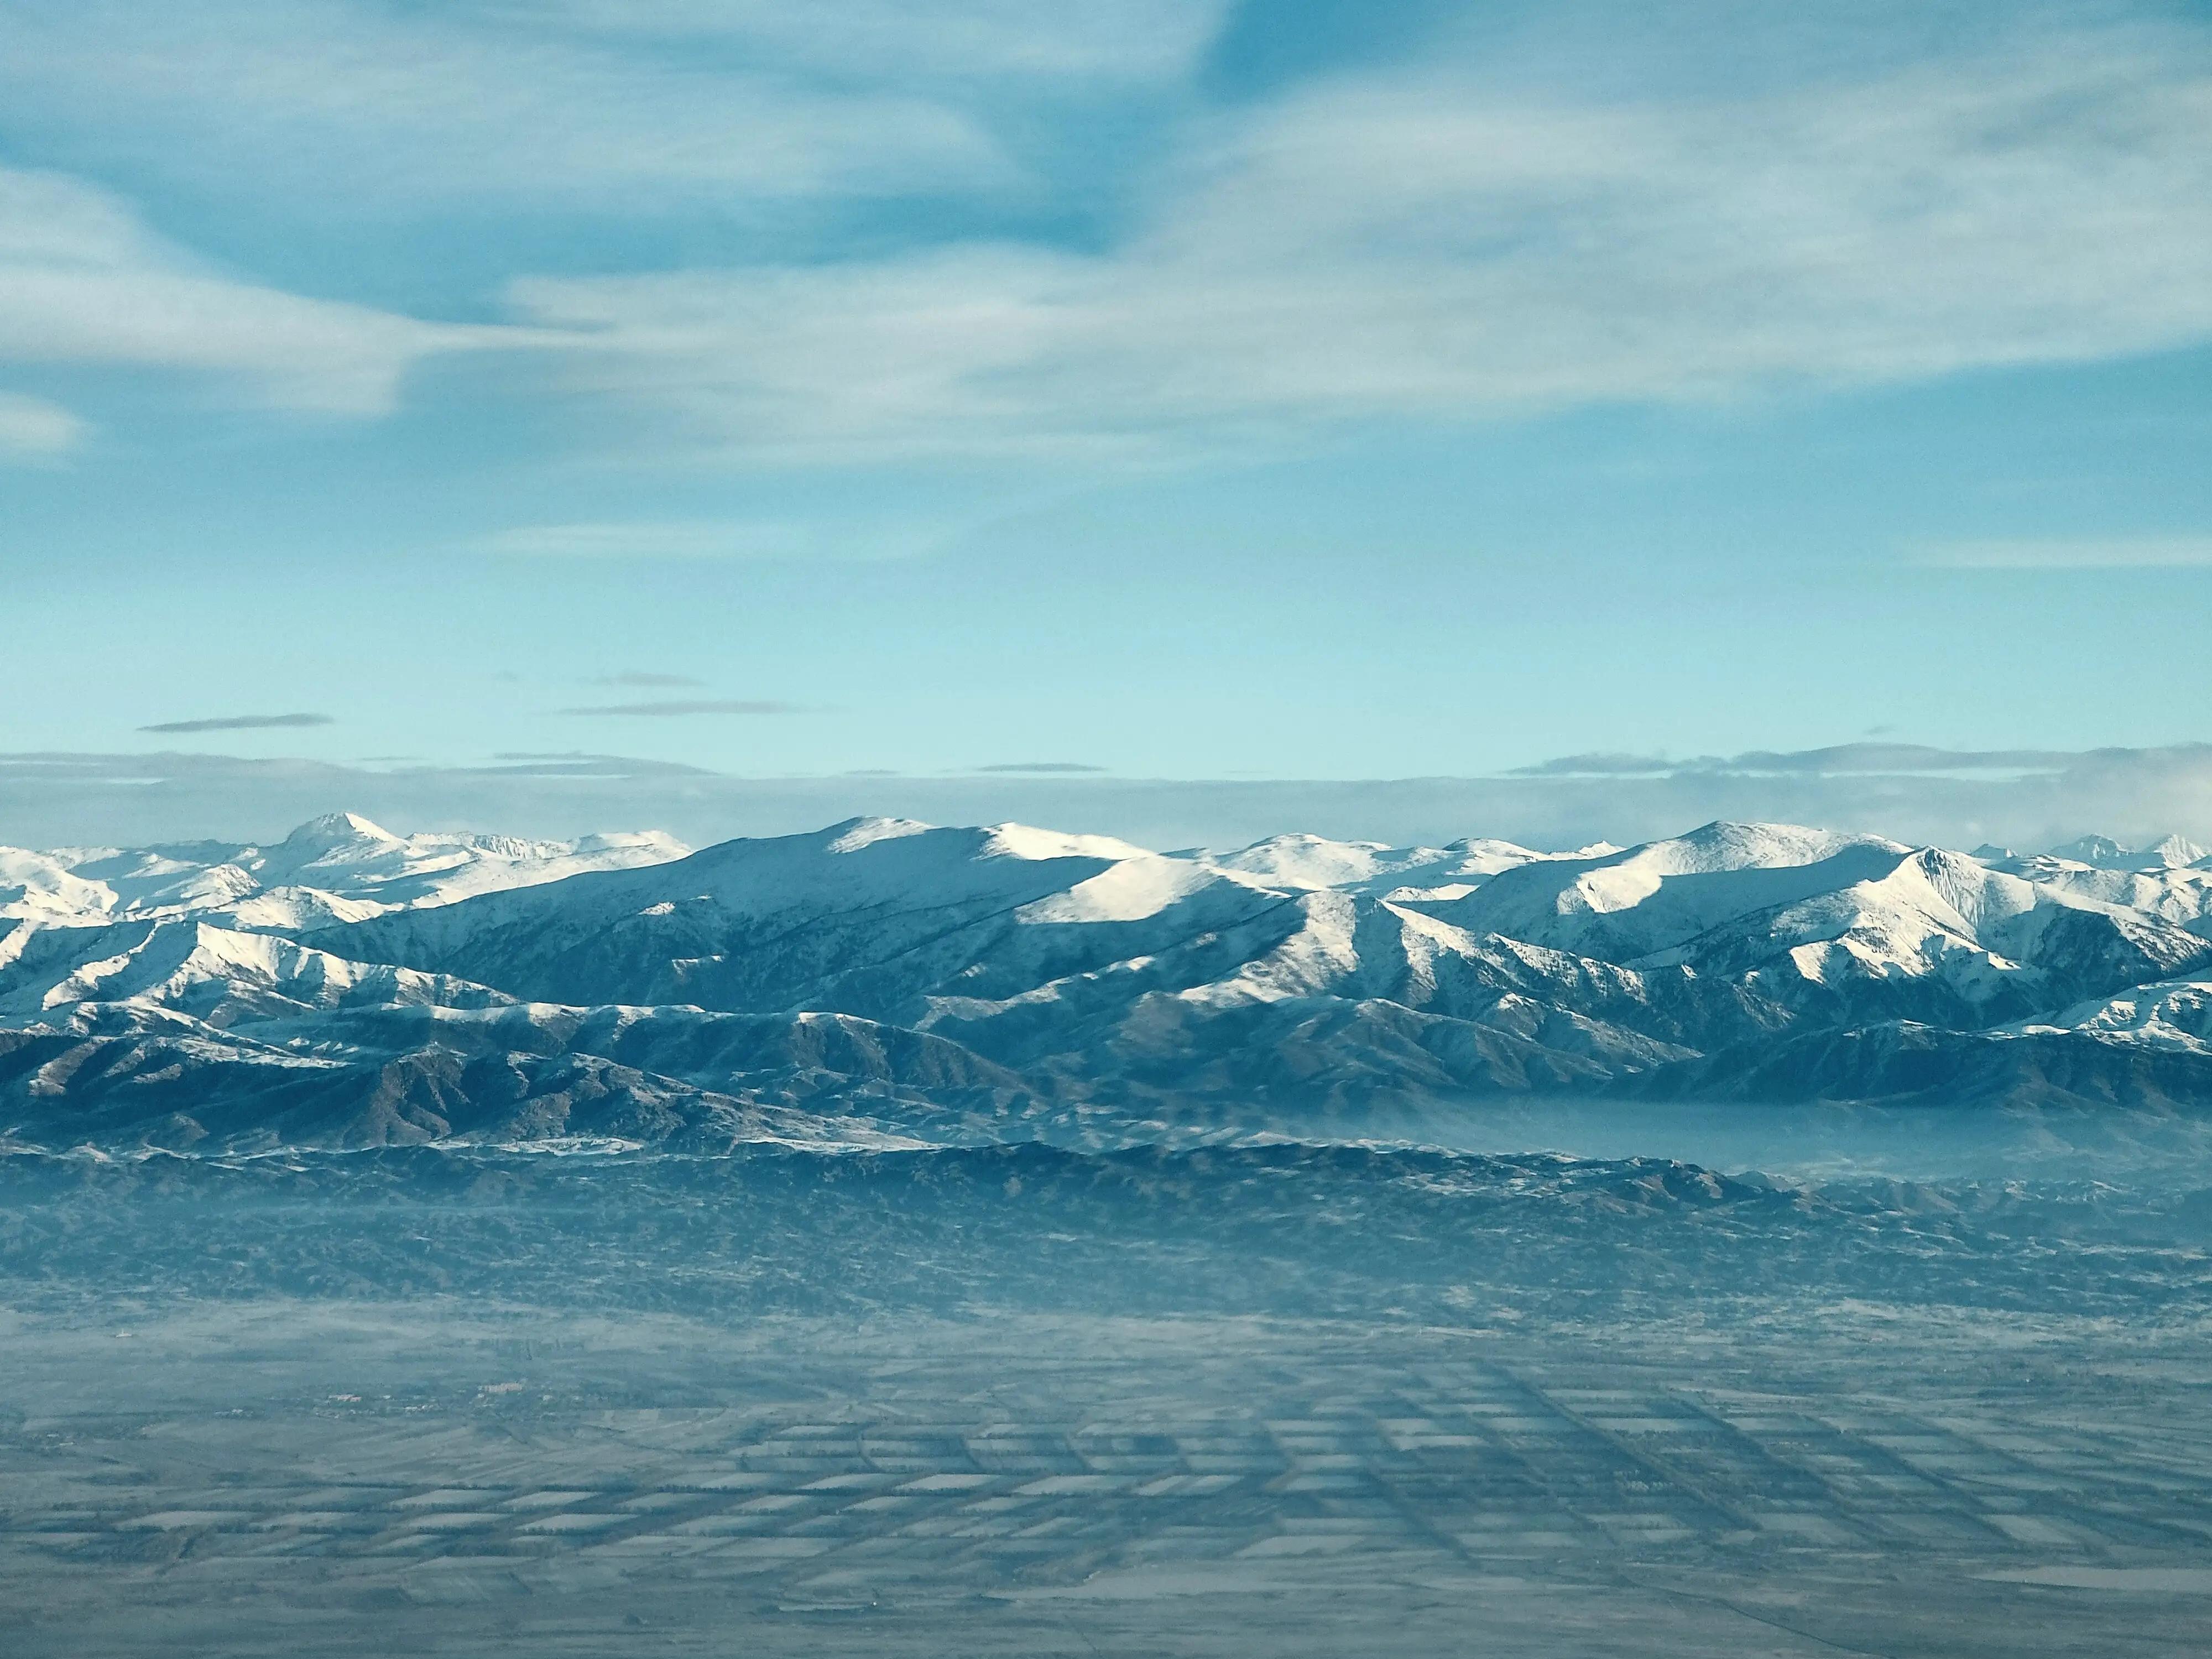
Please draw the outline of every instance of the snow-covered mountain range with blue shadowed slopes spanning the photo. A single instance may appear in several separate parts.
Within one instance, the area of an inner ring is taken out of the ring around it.
[[[349,816],[9,852],[0,1128],[902,1144],[1522,1093],[2212,1106],[2188,852],[1714,823],[1155,854],[867,818],[679,856]]]

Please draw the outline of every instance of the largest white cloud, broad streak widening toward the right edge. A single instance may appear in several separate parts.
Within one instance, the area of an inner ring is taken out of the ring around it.
[[[1128,449],[2212,336],[2212,55],[2044,38],[1663,102],[1442,73],[1221,117],[1099,254],[540,276],[573,385],[772,456]]]

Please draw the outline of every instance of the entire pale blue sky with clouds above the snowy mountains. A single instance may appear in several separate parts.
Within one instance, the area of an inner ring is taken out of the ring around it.
[[[0,838],[2212,841],[2208,453],[2203,0],[0,0]]]

